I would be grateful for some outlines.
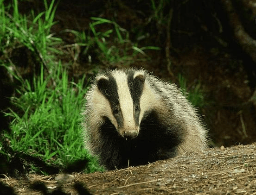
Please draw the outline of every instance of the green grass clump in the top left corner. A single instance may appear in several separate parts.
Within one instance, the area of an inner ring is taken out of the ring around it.
[[[27,17],[19,13],[18,0],[7,6],[4,0],[0,0],[0,50],[6,53],[7,48],[25,46],[46,66],[52,58],[49,52],[60,53],[55,46],[62,42],[50,32],[51,26],[56,23],[54,14],[57,6],[54,4],[55,0],[51,0],[50,5],[44,0],[45,12],[35,15],[32,10]]]

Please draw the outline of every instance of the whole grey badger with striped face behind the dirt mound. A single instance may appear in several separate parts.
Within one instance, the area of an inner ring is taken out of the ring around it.
[[[108,170],[207,147],[207,131],[181,89],[145,69],[97,74],[85,100],[85,148]]]

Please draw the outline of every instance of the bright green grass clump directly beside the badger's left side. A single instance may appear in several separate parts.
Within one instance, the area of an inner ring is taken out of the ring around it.
[[[6,113],[13,118],[12,133],[5,134],[10,147],[62,168],[86,157],[90,162],[84,165],[87,172],[101,170],[83,149],[79,136],[78,118],[87,91],[84,78],[77,84],[69,82],[61,64],[46,78],[43,72],[42,68],[32,84],[24,81],[18,90],[20,96],[12,99],[21,112]]]

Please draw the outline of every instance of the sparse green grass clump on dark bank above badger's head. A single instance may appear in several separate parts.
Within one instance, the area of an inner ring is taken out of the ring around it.
[[[137,43],[132,43],[132,41],[129,40],[129,32],[114,21],[96,17],[91,17],[91,19],[93,22],[89,24],[90,31],[87,36],[84,32],[81,33],[73,30],[66,30],[76,35],[80,44],[86,47],[83,51],[83,55],[90,55],[88,52],[89,49],[96,45],[99,50],[98,53],[102,54],[99,56],[102,63],[129,64],[133,63],[135,59],[139,61],[148,60],[149,57],[145,53],[145,50],[160,50],[159,47],[155,46],[139,48]],[[101,26],[109,26],[109,29],[102,31]],[[101,30],[99,31],[98,29]],[[136,58],[138,54],[141,54],[142,57]]]

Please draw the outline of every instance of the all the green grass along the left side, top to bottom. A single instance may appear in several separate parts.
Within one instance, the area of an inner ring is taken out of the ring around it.
[[[85,162],[82,165],[85,172],[102,170],[83,148],[79,133],[78,118],[87,90],[85,79],[70,82],[67,70],[55,61],[56,55],[61,53],[57,45],[62,43],[50,31],[55,24],[57,6],[54,0],[49,5],[44,0],[44,5],[45,12],[35,15],[31,11],[26,16],[19,13],[18,0],[8,6],[0,0],[0,53],[4,54],[0,65],[22,83],[11,99],[15,109],[6,112],[6,117],[12,119],[11,133],[2,134],[0,154],[9,161],[14,161],[18,154],[25,154],[61,170],[81,161]],[[32,78],[22,78],[8,53],[21,47],[38,59],[36,66],[40,73],[34,73]],[[31,161],[26,163],[26,169],[32,173],[47,173]]]

